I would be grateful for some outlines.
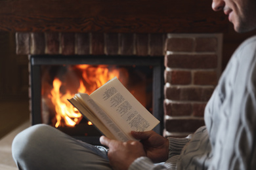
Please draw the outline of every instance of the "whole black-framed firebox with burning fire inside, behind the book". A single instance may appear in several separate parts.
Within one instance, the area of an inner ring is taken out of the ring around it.
[[[163,131],[163,57],[30,56],[32,124],[49,124],[87,143],[101,133],[68,102],[77,92],[92,93],[117,76],[148,109]]]

